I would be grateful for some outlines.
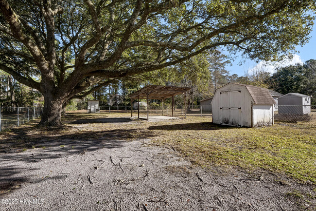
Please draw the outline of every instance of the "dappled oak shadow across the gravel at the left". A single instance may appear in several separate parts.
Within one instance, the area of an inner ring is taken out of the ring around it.
[[[122,148],[126,141],[155,136],[147,130],[105,130],[105,131],[60,131],[32,134],[32,128],[13,130],[0,139],[0,195],[14,190],[31,181],[33,175],[23,176],[32,171],[18,163],[43,162],[71,155],[84,154],[98,149]],[[36,149],[36,150],[29,150]],[[47,178],[50,179],[50,178]],[[57,178],[58,179],[58,178]]]

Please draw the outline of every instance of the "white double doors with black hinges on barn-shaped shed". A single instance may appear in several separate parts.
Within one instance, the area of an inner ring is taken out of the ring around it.
[[[220,117],[223,125],[240,126],[241,91],[220,93]]]

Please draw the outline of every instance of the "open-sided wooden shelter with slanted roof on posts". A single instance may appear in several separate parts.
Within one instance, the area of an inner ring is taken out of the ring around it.
[[[176,95],[184,95],[184,118],[187,117],[187,91],[189,87],[178,87],[178,86],[157,86],[157,85],[146,85],[140,90],[130,95],[131,98],[131,117],[133,117],[133,100],[138,100],[138,118],[140,118],[140,99],[147,99],[147,120],[148,120],[148,100],[159,99],[162,102],[162,115],[163,115],[163,101],[166,98],[172,97],[172,116],[174,116],[174,105]]]

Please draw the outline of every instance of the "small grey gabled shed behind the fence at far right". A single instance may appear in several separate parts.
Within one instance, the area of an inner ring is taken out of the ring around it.
[[[311,96],[288,93],[278,98],[279,114],[310,115]]]

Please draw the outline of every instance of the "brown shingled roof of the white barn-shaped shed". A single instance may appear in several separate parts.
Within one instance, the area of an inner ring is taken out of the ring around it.
[[[276,104],[276,102],[274,101],[268,89],[264,89],[264,88],[252,86],[252,85],[239,84],[239,83],[232,83],[232,84],[246,86],[246,89],[248,90],[255,104],[263,104],[263,105]]]

